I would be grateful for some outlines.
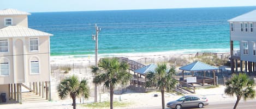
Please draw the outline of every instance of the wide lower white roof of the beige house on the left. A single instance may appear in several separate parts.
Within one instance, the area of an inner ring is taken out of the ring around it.
[[[9,25],[0,29],[0,37],[33,37],[33,36],[53,36],[43,31],[22,27],[19,25]]]

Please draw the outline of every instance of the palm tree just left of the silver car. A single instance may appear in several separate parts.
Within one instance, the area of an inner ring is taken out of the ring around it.
[[[148,78],[146,87],[159,87],[161,94],[162,94],[162,108],[165,108],[165,102],[164,102],[164,92],[171,91],[172,89],[175,89],[177,80],[173,78],[175,74],[175,67],[171,66],[171,68],[166,72],[166,64],[165,63],[159,63],[157,65],[157,68],[155,69],[155,72],[148,72],[146,74],[146,78]]]

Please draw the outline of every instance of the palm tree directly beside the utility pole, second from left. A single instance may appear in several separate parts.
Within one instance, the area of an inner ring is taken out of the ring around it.
[[[119,62],[117,58],[102,59],[98,66],[103,73],[97,74],[93,82],[96,84],[104,82],[104,86],[110,88],[110,109],[112,109],[115,85],[120,83],[126,85],[132,74],[127,72],[129,68],[127,62]]]

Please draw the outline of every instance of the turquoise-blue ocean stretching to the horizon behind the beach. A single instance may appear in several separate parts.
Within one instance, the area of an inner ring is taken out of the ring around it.
[[[99,55],[168,52],[229,52],[227,20],[256,7],[112,11],[33,12],[29,28],[50,37],[51,56],[94,54],[95,24]],[[239,44],[235,43],[235,48]]]

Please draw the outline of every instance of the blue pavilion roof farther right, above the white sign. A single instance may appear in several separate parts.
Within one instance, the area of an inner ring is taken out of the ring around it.
[[[179,68],[181,70],[187,70],[187,71],[203,71],[203,70],[217,70],[218,68],[207,65],[204,62],[195,61],[193,63],[190,63],[186,66],[183,66]]]

